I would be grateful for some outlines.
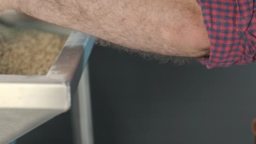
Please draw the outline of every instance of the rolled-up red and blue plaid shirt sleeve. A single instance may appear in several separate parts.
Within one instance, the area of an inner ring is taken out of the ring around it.
[[[211,42],[210,56],[199,58],[207,68],[256,61],[255,1],[197,0]]]

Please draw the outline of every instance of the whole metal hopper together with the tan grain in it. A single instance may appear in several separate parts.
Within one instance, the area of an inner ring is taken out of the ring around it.
[[[10,11],[1,22],[0,143],[9,143],[69,110],[94,38]]]

